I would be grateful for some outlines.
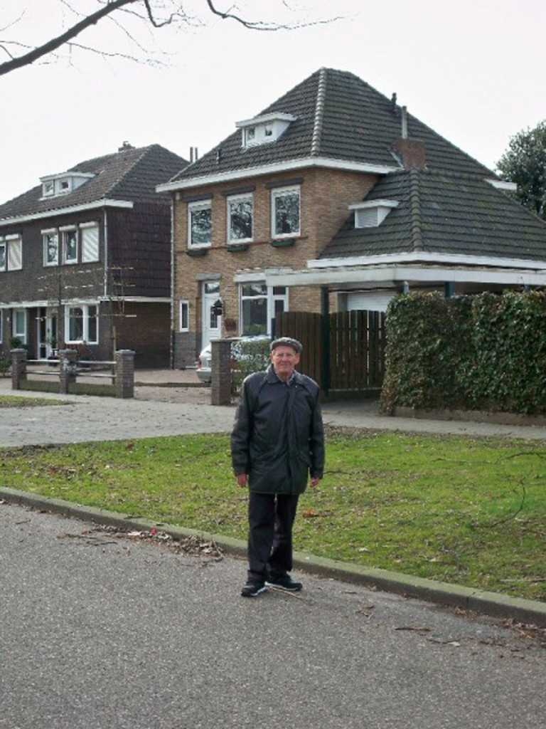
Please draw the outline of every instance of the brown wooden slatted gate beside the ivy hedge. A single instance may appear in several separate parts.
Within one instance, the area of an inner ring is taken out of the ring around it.
[[[277,314],[275,336],[303,344],[298,370],[325,392],[365,391],[383,383],[384,322],[382,311],[285,311]]]

